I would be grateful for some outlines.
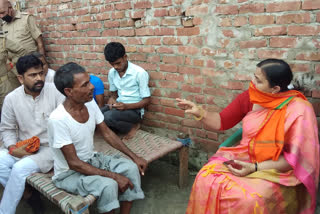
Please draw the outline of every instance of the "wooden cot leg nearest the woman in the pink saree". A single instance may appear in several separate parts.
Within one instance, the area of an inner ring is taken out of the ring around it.
[[[179,187],[184,188],[188,184],[188,161],[189,161],[189,147],[183,146],[179,151]]]

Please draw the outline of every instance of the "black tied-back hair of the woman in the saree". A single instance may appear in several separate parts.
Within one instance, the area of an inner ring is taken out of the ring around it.
[[[293,74],[288,63],[281,59],[266,59],[257,64],[266,75],[270,87],[279,86],[280,92],[287,91]]]

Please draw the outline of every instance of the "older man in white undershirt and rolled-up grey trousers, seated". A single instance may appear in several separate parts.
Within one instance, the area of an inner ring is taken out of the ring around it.
[[[54,83],[66,100],[48,121],[54,154],[53,182],[68,192],[98,197],[101,213],[114,213],[120,206],[121,214],[129,214],[132,201],[144,198],[139,171],[144,174],[147,161],[130,151],[103,122],[104,117],[92,99],[94,87],[84,68],[68,63],[57,70]],[[107,143],[132,161],[94,153],[96,127]]]

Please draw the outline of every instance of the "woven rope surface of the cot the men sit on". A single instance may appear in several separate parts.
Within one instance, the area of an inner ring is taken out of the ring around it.
[[[179,141],[142,130],[138,130],[133,139],[124,142],[133,152],[145,158],[148,163],[183,147]],[[108,155],[127,157],[107,144],[101,135],[95,135],[94,147],[95,151],[105,152]],[[27,178],[27,182],[54,204],[58,205],[64,213],[89,213],[88,207],[93,204],[95,197],[92,195],[81,197],[56,188],[51,180],[52,175],[53,172],[47,174],[34,173]]]

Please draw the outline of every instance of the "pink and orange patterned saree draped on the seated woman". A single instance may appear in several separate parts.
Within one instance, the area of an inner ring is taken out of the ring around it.
[[[307,213],[313,214],[319,179],[319,142],[312,105],[294,98],[287,106],[281,155],[293,170],[257,171],[246,177],[231,174],[226,160],[252,162],[250,141],[268,109],[251,111],[243,119],[240,145],[220,148],[200,170],[192,187],[187,214]]]

